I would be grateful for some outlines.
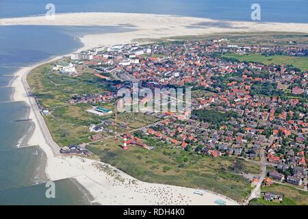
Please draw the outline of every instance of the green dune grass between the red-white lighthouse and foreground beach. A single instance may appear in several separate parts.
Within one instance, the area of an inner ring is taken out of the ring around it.
[[[251,183],[239,173],[258,173],[259,166],[230,157],[217,159],[190,154],[170,146],[156,146],[154,151],[129,146],[123,151],[115,140],[108,139],[87,146],[106,162],[142,181],[203,188],[243,201],[251,192]],[[235,164],[238,168],[234,168]]]

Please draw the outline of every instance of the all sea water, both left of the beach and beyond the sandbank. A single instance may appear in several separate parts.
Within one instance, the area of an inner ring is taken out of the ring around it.
[[[0,18],[45,14],[49,0],[0,0]],[[251,5],[261,5],[261,21],[308,22],[307,0],[53,0],[55,12],[133,12],[175,14],[218,20],[251,21]],[[90,197],[75,181],[55,182],[55,198],[46,198],[45,155],[27,146],[33,130],[24,102],[11,102],[10,83],[18,68],[82,46],[76,36],[132,31],[123,27],[0,26],[0,205],[84,205]]]

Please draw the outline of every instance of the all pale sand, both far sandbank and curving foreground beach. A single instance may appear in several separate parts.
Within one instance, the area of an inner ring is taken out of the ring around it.
[[[47,21],[44,16],[0,19],[0,25],[112,25],[130,27],[131,32],[118,34],[87,35],[81,38],[84,47],[107,46],[131,42],[138,38],[162,38],[196,34],[250,31],[292,31],[308,33],[307,24],[222,22],[205,18],[164,16],[155,14],[121,13],[73,13],[58,14],[55,21]],[[60,59],[54,57],[47,62]],[[42,62],[40,64],[45,64]],[[34,99],[27,95],[29,86],[27,73],[40,64],[21,68],[12,82],[12,101],[25,101],[31,108],[29,118],[35,130],[29,138],[29,145],[39,145],[47,155],[46,175],[51,181],[74,178],[90,192],[94,201],[101,205],[216,205],[222,199],[227,205],[238,205],[222,195],[205,191],[203,196],[194,194],[195,189],[172,185],[144,183],[133,179],[110,165],[75,156],[62,156],[59,146],[40,115]]]

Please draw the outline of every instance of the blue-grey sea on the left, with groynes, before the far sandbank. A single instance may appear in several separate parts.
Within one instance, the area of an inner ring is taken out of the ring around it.
[[[10,83],[23,66],[55,55],[65,55],[83,46],[84,34],[130,31],[123,27],[0,26],[0,205],[81,205],[90,196],[75,181],[55,182],[55,198],[46,198],[46,157],[39,146],[27,145],[33,131],[27,118],[29,106],[11,101]]]

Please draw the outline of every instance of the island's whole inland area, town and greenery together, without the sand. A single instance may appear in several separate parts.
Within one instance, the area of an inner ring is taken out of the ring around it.
[[[62,155],[238,203],[305,204],[305,55],[303,34],[161,38],[74,53],[34,68],[27,81]],[[117,113],[118,90],[136,81],[191,88],[190,118]]]

